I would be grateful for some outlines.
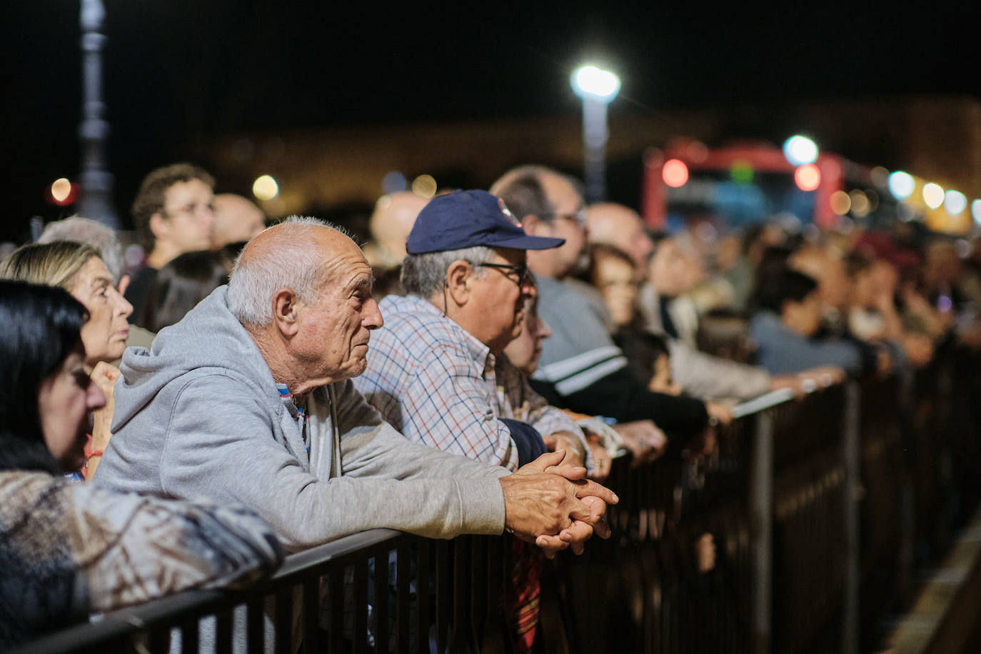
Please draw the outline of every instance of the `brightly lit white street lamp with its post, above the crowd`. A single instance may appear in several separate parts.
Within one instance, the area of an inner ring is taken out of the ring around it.
[[[577,69],[571,78],[572,90],[583,100],[584,176],[587,202],[606,196],[606,105],[620,90],[620,78],[595,66]]]

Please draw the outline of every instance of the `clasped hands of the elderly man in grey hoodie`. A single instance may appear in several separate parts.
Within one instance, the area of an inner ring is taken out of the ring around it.
[[[613,491],[586,479],[585,468],[563,463],[564,457],[562,450],[542,454],[514,475],[499,479],[505,528],[534,542],[548,558],[570,546],[582,554],[594,533],[608,538],[606,505],[619,502]]]

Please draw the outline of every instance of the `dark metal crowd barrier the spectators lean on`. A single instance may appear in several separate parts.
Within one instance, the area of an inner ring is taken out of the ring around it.
[[[978,496],[972,356],[802,399],[769,393],[736,408],[709,455],[676,444],[653,464],[615,459],[612,537],[545,566],[549,651],[874,647]],[[184,592],[23,650],[508,652],[510,550],[504,537],[375,529],[292,555],[251,588]]]

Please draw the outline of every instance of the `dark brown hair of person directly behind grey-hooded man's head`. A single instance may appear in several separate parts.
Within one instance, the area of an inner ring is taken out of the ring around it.
[[[135,323],[153,332],[180,323],[198,302],[228,281],[223,253],[185,252],[157,273]]]

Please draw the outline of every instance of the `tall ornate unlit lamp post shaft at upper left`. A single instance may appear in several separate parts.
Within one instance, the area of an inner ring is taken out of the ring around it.
[[[85,218],[118,228],[119,217],[113,208],[113,176],[106,166],[106,140],[109,123],[104,119],[102,102],[101,33],[106,17],[102,0],[81,0],[81,123],[78,139],[81,145],[81,197],[78,213]]]

